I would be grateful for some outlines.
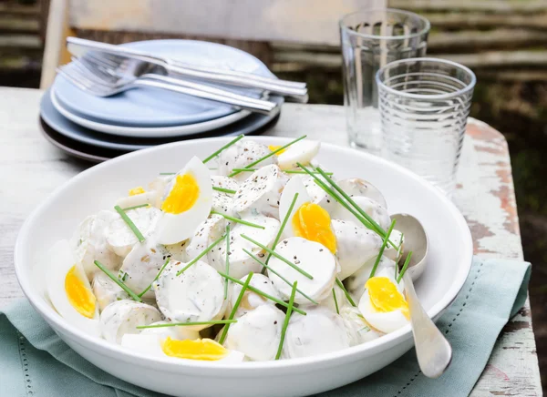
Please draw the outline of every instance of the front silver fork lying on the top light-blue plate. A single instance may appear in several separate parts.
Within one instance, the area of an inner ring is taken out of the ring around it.
[[[137,87],[156,87],[192,97],[210,99],[264,115],[271,114],[274,108],[277,107],[277,104],[274,102],[244,97],[222,89],[173,79],[167,76],[155,76],[154,79],[119,76],[110,76],[107,78],[104,71],[92,72],[91,69],[89,65],[84,66],[81,61],[75,58],[72,63],[58,67],[57,72],[74,86],[96,97],[111,97]],[[176,81],[176,85],[172,84],[172,80]]]

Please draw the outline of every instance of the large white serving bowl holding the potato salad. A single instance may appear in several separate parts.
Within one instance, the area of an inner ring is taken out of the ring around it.
[[[269,145],[287,139],[252,137]],[[410,326],[375,341],[328,354],[287,361],[222,364],[150,358],[83,334],[48,304],[40,284],[40,258],[77,224],[108,209],[129,188],[159,172],[178,171],[192,156],[205,158],[227,138],[197,139],[140,150],[69,180],[26,219],[15,244],[15,272],[26,297],[59,337],[104,371],[144,388],[176,396],[292,396],[325,392],[354,382],[396,360],[413,344]],[[438,318],[456,298],[470,271],[472,241],[459,210],[437,188],[404,168],[349,148],[324,144],[317,157],[338,178],[366,178],[387,199],[391,213],[420,219],[429,236],[428,269],[416,283],[428,314]]]

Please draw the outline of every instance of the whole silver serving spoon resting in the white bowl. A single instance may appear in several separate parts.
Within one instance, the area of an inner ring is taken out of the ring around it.
[[[428,235],[419,220],[411,215],[395,214],[391,218],[397,219],[397,230],[405,234],[404,251],[412,251],[408,271],[403,274],[403,280],[419,369],[428,378],[439,378],[449,367],[452,360],[452,348],[439,328],[429,319],[426,310],[422,308],[412,283],[413,280],[418,279],[426,267]]]

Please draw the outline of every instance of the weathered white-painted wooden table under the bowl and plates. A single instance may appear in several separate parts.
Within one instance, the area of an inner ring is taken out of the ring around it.
[[[13,268],[13,247],[26,215],[41,199],[89,164],[54,148],[38,132],[42,91],[0,88],[0,307],[22,296]],[[270,132],[307,134],[346,145],[342,107],[284,105]],[[466,217],[475,252],[522,260],[511,162],[504,137],[470,120],[454,201]],[[503,329],[472,395],[541,396],[530,304]]]

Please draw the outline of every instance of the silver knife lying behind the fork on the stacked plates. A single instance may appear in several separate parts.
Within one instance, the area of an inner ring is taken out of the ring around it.
[[[113,46],[107,43],[67,37],[67,49],[75,56],[85,57],[89,53],[108,58],[113,68],[132,68],[148,70],[151,73],[170,76],[186,76],[201,81],[221,83],[239,87],[261,88],[285,97],[292,97],[298,102],[307,102],[305,83],[279,80],[271,77],[256,76],[233,70],[222,70],[202,66],[189,66],[180,61],[160,56],[151,56],[125,46]]]

